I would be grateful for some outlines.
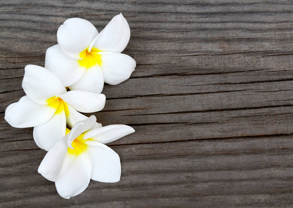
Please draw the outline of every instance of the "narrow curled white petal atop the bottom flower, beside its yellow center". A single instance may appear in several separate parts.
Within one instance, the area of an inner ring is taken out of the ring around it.
[[[81,135],[83,132],[89,130],[96,123],[96,121],[96,116],[90,116],[83,121],[78,121],[67,135],[67,146],[74,149],[72,147],[72,141],[74,141],[74,139],[76,139],[76,137]]]

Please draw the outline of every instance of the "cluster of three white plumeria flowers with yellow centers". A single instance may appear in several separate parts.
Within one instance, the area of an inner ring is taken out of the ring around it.
[[[33,127],[35,144],[48,151],[38,172],[55,182],[62,198],[83,192],[90,179],[120,180],[119,155],[105,144],[135,130],[121,124],[102,127],[95,116],[81,113],[102,110],[103,83],[122,83],[135,70],[135,60],[121,53],[130,35],[122,14],[101,33],[90,21],[67,19],[58,28],[58,44],[47,49],[44,67],[25,67],[26,96],[6,108],[6,121],[15,128]]]

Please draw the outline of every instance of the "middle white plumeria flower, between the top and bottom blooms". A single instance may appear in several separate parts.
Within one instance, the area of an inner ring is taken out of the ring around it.
[[[44,150],[65,136],[66,124],[86,118],[79,112],[97,112],[106,102],[103,94],[67,92],[51,71],[35,65],[25,67],[22,88],[26,96],[6,108],[4,119],[15,128],[34,127],[35,143]]]

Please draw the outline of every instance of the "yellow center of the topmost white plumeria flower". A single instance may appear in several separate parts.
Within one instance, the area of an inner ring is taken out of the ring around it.
[[[85,49],[82,51],[79,56],[82,58],[81,60],[78,60],[79,65],[81,67],[90,68],[96,64],[99,64],[101,66],[101,55],[99,54],[99,49],[92,48],[90,52]]]

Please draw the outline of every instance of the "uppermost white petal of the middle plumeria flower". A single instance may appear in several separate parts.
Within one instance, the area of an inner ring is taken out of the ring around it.
[[[44,67],[27,65],[24,71],[22,88],[33,101],[47,104],[47,99],[66,92],[60,80]]]

